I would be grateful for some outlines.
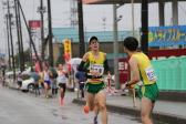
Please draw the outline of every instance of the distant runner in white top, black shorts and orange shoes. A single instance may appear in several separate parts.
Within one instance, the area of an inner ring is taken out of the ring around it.
[[[58,73],[58,82],[59,82],[59,89],[60,89],[60,105],[63,104],[63,99],[65,94],[66,89],[66,79],[69,78],[68,71],[63,70],[63,65],[59,64],[59,71]]]

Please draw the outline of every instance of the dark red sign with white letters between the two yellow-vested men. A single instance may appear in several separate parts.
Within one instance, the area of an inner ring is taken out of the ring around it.
[[[118,59],[118,74],[120,83],[125,83],[131,80],[128,59]]]

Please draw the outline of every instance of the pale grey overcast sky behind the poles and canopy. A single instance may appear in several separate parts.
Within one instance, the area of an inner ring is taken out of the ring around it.
[[[4,13],[7,9],[2,9],[2,1],[0,0],[0,53],[6,53],[6,23]],[[10,0],[11,1],[11,0]],[[40,20],[40,13],[37,12],[40,6],[40,0],[20,0],[27,20]],[[46,0],[43,0],[44,7],[46,7]],[[141,27],[141,4],[134,4],[135,8],[135,30]],[[148,25],[158,27],[158,4],[149,3],[148,6]],[[11,10],[13,11],[13,9]],[[52,28],[69,28],[70,27],[70,0],[51,0],[51,11],[52,11]],[[93,6],[84,4],[84,27],[86,32],[104,31],[103,18],[106,18],[106,31],[113,30],[113,6]],[[131,17],[131,4],[124,4],[117,9],[117,16],[123,16],[123,19],[118,22],[118,30],[132,30],[132,17]],[[165,3],[165,25],[170,25],[172,18],[172,3]],[[186,2],[178,2],[178,24],[186,25]],[[44,13],[44,28],[48,29],[48,14]],[[27,33],[25,25],[22,20],[23,29],[23,43],[24,50],[28,48],[29,37]],[[12,30],[13,43],[16,44],[17,32],[16,29]],[[16,46],[16,45],[14,45]]]

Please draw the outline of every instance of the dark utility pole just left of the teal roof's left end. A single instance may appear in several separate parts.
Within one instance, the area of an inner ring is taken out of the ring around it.
[[[48,0],[48,22],[49,22],[49,56],[50,65],[53,66],[53,43],[52,43],[52,18],[51,18],[51,2]]]

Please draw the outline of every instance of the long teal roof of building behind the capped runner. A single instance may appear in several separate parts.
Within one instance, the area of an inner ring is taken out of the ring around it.
[[[64,39],[72,40],[72,42],[79,42],[79,31],[76,28],[52,28],[52,33],[56,42],[62,42]],[[84,32],[84,41],[87,41],[91,37],[97,37],[99,42],[113,42],[113,31],[99,31],[99,32]],[[118,31],[117,40],[123,41],[126,37],[132,37],[132,31]],[[135,31],[137,38],[137,31]]]

